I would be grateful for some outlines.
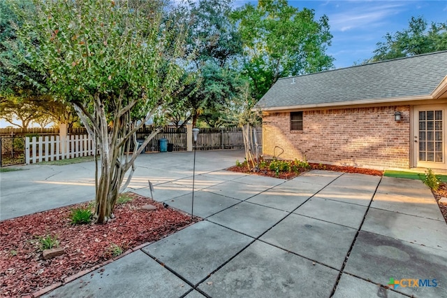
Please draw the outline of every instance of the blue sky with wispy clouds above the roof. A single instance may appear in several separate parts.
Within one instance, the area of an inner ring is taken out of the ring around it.
[[[235,6],[257,1],[236,0]],[[329,17],[332,45],[328,54],[335,57],[336,68],[352,66],[372,57],[376,43],[387,33],[408,28],[411,16],[430,22],[447,22],[447,1],[296,1],[291,6],[311,8],[316,18]]]

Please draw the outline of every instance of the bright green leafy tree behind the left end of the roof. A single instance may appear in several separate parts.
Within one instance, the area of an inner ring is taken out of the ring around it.
[[[259,0],[235,10],[232,19],[244,43],[243,71],[254,99],[278,78],[332,67],[333,58],[325,53],[332,38],[325,15],[315,20],[314,10],[299,10],[286,0]]]

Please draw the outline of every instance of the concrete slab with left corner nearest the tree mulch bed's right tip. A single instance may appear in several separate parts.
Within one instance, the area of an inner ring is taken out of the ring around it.
[[[287,214],[277,209],[242,202],[212,215],[207,220],[256,238]]]

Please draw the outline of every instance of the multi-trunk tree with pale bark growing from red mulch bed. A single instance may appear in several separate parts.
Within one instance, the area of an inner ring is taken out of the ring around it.
[[[161,1],[36,0],[34,5],[33,15],[21,14],[23,59],[48,74],[41,87],[72,104],[96,141],[101,174],[95,215],[103,223],[113,216],[125,174],[131,169],[129,181],[135,158],[160,129],[130,155],[135,132],[150,118],[157,122],[179,88],[184,30],[167,30],[175,24],[163,21]]]

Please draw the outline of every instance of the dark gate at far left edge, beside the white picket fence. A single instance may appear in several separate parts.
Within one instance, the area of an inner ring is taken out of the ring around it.
[[[0,143],[0,166],[25,163],[25,138],[23,136],[1,136]]]

